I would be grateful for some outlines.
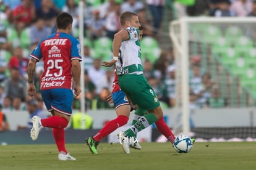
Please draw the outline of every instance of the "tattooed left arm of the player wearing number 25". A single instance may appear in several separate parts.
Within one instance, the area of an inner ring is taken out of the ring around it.
[[[36,89],[35,89],[35,84],[34,84],[34,75],[35,75],[35,67],[36,67],[36,62],[38,60],[31,58],[28,62],[28,69],[27,69],[27,74],[28,74],[28,95],[30,97],[33,97],[36,94]]]

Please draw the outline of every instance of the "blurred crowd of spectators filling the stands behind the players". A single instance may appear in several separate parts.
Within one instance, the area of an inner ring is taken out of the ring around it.
[[[72,34],[78,38],[78,5],[79,1],[77,0],[0,0],[0,105],[2,112],[28,109],[26,103],[30,101],[30,98],[27,95],[26,79],[29,54],[41,38],[45,38],[56,31],[55,18],[61,11],[69,12],[74,17]],[[101,62],[111,57],[111,41],[114,34],[121,29],[119,15],[126,10],[138,14],[140,23],[145,27],[143,37],[155,39],[156,42],[160,43],[158,34],[163,31],[165,10],[172,10],[172,19],[184,15],[256,16],[256,1],[85,1],[83,9],[85,87],[83,92],[88,109],[113,108],[113,105],[106,102],[106,96],[111,94],[114,68],[103,68]],[[102,52],[99,49],[102,50],[104,44],[109,49],[107,51],[104,49]],[[159,46],[161,49],[161,44]],[[143,67],[148,82],[158,94],[163,108],[174,107],[176,67],[171,44],[168,49],[161,49],[160,54],[155,56],[154,60],[147,58],[147,55],[145,56]],[[221,97],[220,89],[215,86],[211,75],[200,67],[200,56],[190,58],[191,107],[228,107],[226,99]],[[35,84],[39,86],[38,81],[43,70],[43,63],[39,62],[37,65]],[[35,100],[38,102],[34,102],[34,104],[40,103],[40,91],[38,91]],[[74,101],[74,108],[79,109],[79,105],[79,98],[77,98]],[[39,107],[41,106],[38,105]]]

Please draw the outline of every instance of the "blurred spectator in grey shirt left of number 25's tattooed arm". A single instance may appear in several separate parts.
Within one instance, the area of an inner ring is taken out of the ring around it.
[[[4,81],[4,93],[7,97],[13,100],[15,97],[20,97],[22,102],[27,99],[27,82],[20,76],[19,68],[11,69],[11,77]]]

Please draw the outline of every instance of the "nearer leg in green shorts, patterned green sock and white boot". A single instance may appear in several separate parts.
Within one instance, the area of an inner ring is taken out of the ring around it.
[[[127,78],[129,76],[129,78]],[[134,77],[133,77],[134,76]],[[148,110],[148,114],[142,116],[134,125],[124,132],[119,132],[121,144],[124,152],[130,153],[130,139],[136,137],[137,132],[142,131],[150,124],[155,123],[163,117],[163,110],[160,102],[153,91],[152,87],[147,83],[147,79],[143,75],[122,75],[119,76],[119,86],[129,95],[132,103],[137,104],[139,108]]]

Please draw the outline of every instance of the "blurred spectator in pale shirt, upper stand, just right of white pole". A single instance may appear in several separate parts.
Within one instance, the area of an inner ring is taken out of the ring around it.
[[[105,36],[105,19],[100,18],[100,11],[93,10],[93,17],[88,21],[88,36],[91,41]]]

